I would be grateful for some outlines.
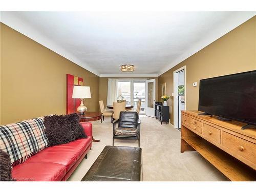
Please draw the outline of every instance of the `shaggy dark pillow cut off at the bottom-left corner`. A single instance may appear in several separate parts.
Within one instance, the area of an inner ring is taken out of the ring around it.
[[[14,181],[12,179],[12,165],[8,153],[0,148],[0,181]]]

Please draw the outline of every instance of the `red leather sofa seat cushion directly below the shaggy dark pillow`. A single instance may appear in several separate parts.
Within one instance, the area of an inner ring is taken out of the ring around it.
[[[66,167],[66,172],[91,144],[91,137],[78,139],[67,144],[48,147],[44,151],[29,158],[26,162],[58,163]]]

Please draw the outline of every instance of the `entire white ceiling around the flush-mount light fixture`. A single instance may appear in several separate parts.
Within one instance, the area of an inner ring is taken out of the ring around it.
[[[1,22],[97,75],[158,76],[254,15],[24,11],[1,12]],[[126,63],[135,71],[121,72]]]

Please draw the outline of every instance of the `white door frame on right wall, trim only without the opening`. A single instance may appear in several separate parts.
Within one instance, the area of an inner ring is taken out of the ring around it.
[[[177,69],[174,71],[174,128],[178,129],[179,128],[179,121],[178,121],[178,117],[179,117],[179,113],[178,113],[178,74],[177,72],[184,70],[184,88],[185,88],[185,110],[186,110],[186,103],[187,103],[187,99],[186,99],[186,66],[181,67],[180,69]]]

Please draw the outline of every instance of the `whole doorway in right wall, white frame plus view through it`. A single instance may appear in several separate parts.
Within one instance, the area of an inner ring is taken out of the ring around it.
[[[174,127],[181,128],[181,111],[186,110],[186,66],[174,71]]]

